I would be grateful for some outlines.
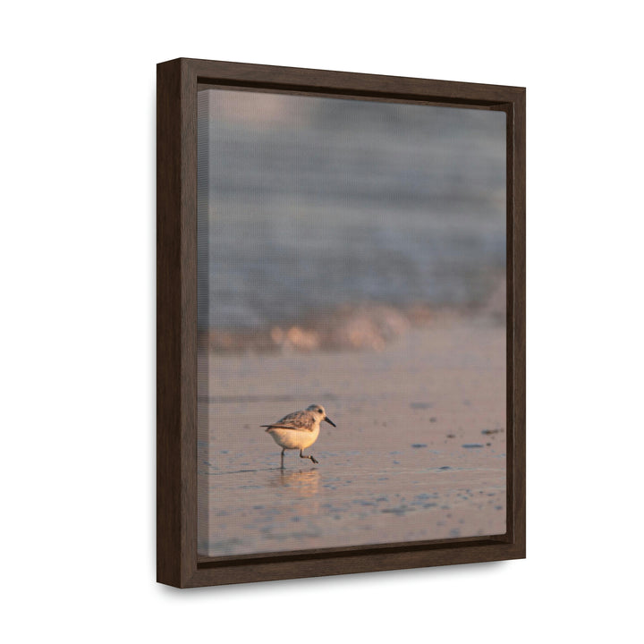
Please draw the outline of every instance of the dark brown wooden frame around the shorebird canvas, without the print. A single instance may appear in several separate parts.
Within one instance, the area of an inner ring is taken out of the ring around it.
[[[197,555],[197,90],[215,85],[507,114],[507,532]],[[157,65],[157,580],[180,588],[525,557],[525,89],[179,58]]]

